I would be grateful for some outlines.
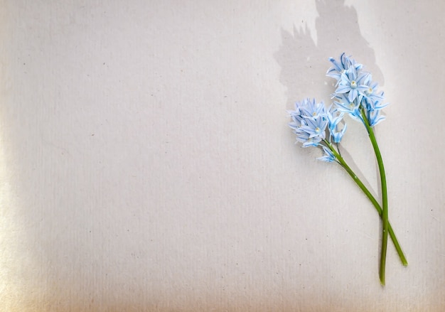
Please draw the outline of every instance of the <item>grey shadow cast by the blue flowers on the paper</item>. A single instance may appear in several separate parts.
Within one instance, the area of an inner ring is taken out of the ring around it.
[[[380,85],[384,82],[382,72],[375,63],[374,50],[360,32],[355,8],[345,6],[345,0],[316,0],[316,9],[317,41],[313,41],[307,25],[299,28],[294,26],[293,31],[282,29],[282,45],[274,54],[281,67],[279,80],[286,87],[286,109],[293,109],[294,102],[306,97],[316,97],[318,102],[323,100],[326,105],[331,104],[335,80],[326,77],[326,71],[331,65],[328,58],[338,58],[343,52],[353,55],[353,58],[364,64],[365,70],[372,72],[373,80]],[[352,123],[348,120],[348,127]],[[349,166],[363,177],[344,146],[341,152]],[[362,181],[372,190],[366,179]]]

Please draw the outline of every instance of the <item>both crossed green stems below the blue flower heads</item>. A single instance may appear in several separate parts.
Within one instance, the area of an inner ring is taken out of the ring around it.
[[[372,146],[374,147],[375,152],[377,154],[378,146],[377,146],[377,142],[375,140],[374,133],[372,132],[372,128],[369,126],[368,119],[365,118],[365,120],[366,120],[365,126],[367,126],[368,134],[370,134]],[[380,170],[380,178],[382,180],[382,194],[385,194],[385,195],[382,195],[383,207],[384,207],[384,208],[382,208],[382,207],[380,207],[380,204],[377,202],[375,197],[370,193],[368,188],[366,188],[366,186],[363,184],[363,182],[360,181],[360,178],[358,178],[358,176],[354,173],[354,171],[350,168],[350,166],[348,166],[348,163],[346,163],[345,160],[343,159],[343,157],[338,153],[338,151],[336,151],[336,149],[334,149],[332,144],[329,141],[327,141],[326,139],[323,140],[323,142],[326,144],[328,149],[331,150],[333,155],[336,156],[337,163],[339,163],[345,169],[345,171],[347,171],[349,173],[350,177],[353,178],[353,181],[358,185],[358,187],[361,190],[363,190],[363,193],[365,193],[365,195],[371,201],[372,205],[374,205],[375,210],[377,210],[377,213],[380,215],[380,217],[382,217],[383,237],[382,237],[382,253],[381,253],[381,257],[380,257],[380,274],[379,274],[379,276],[380,276],[381,284],[385,285],[385,259],[386,259],[387,234],[388,233],[390,234],[391,240],[394,243],[395,249],[397,250],[397,254],[399,254],[400,261],[402,262],[402,264],[405,267],[408,265],[407,259],[404,257],[404,253],[402,252],[402,248],[400,247],[399,241],[397,240],[397,237],[395,236],[395,233],[392,230],[392,226],[387,218],[387,193],[386,193],[385,171],[383,171],[383,175],[382,175],[382,171]],[[377,146],[377,151],[376,151],[376,146]],[[380,159],[380,161],[379,161],[379,159]],[[378,151],[377,162],[379,162],[379,169],[380,169],[380,163],[382,163],[382,157],[380,155],[380,151]],[[386,219],[386,229],[385,229],[385,220],[384,219]],[[385,236],[386,236],[386,238],[385,238]]]

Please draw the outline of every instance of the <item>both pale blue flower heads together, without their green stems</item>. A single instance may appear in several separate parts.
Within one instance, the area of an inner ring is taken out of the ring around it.
[[[331,150],[331,143],[340,143],[346,131],[343,116],[349,114],[355,120],[363,122],[365,127],[374,127],[385,119],[380,111],[383,104],[383,92],[378,92],[377,82],[372,81],[363,65],[355,62],[343,53],[338,60],[329,58],[332,67],[326,75],[337,80],[333,93],[333,104],[326,108],[323,102],[304,99],[296,102],[295,109],[289,111],[292,121],[289,127],[294,130],[296,140],[303,147],[318,146],[323,149],[321,161],[336,161]]]

